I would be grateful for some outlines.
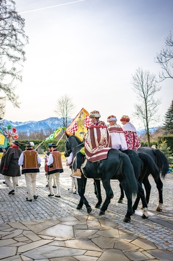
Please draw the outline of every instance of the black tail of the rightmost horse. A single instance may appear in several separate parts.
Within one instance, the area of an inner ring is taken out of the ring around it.
[[[168,160],[167,160],[166,156],[158,149],[153,150],[153,153],[156,156],[155,164],[157,165],[157,167],[160,170],[161,177],[164,178],[169,169]]]

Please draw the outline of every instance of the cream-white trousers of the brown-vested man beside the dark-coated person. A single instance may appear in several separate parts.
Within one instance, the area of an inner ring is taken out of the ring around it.
[[[33,196],[37,196],[37,193],[36,193],[36,174],[37,173],[25,173],[24,174],[28,200],[33,199]]]

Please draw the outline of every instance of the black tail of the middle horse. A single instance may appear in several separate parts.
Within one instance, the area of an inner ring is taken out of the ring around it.
[[[142,160],[142,162],[145,164],[145,167],[147,167],[151,175],[154,173],[157,173],[159,175],[159,169],[157,165],[154,163],[154,161],[148,154],[139,152],[139,157]]]

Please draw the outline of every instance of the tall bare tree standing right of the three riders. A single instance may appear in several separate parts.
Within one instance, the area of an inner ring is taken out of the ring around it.
[[[134,115],[140,119],[145,127],[147,136],[147,145],[149,146],[149,124],[159,120],[158,105],[160,99],[154,99],[154,94],[161,89],[157,86],[155,75],[149,71],[143,71],[141,68],[136,69],[132,75],[132,90],[137,94],[139,103],[134,104]]]

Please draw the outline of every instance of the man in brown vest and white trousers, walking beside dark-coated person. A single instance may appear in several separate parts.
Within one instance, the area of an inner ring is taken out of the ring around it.
[[[26,189],[28,197],[26,201],[31,202],[32,198],[37,199],[36,193],[36,174],[39,172],[39,166],[41,159],[38,153],[33,150],[34,143],[28,142],[26,144],[26,150],[22,152],[18,159],[18,165],[21,167],[21,174],[24,174]]]

